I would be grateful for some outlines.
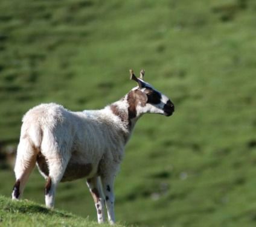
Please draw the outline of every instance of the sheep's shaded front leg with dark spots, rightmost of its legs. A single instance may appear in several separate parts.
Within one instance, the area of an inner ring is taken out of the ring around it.
[[[110,225],[113,225],[115,223],[114,175],[102,176],[101,182],[102,182],[103,192],[106,196],[105,199],[106,199],[106,207],[107,207],[107,217],[109,219]]]

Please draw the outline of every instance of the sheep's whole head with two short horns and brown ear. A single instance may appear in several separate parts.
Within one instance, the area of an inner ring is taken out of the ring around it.
[[[173,103],[167,96],[145,82],[144,75],[145,71],[141,70],[140,76],[137,78],[133,70],[130,70],[130,79],[138,83],[138,86],[128,94],[129,102],[133,104],[131,113],[135,112],[136,116],[144,113],[158,113],[171,116],[174,112]]]

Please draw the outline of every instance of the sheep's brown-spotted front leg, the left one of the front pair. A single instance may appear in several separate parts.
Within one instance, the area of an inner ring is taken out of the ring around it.
[[[100,187],[100,178],[95,177],[87,180],[87,185],[94,198],[95,207],[97,210],[98,223],[104,222],[104,197]]]

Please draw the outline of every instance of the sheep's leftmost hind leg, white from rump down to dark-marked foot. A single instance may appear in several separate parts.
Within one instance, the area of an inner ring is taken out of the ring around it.
[[[42,129],[39,123],[33,121],[27,124],[27,122],[24,122],[14,167],[16,182],[13,187],[13,199],[19,199],[21,197],[28,177],[36,165],[36,158],[40,151],[41,142]]]

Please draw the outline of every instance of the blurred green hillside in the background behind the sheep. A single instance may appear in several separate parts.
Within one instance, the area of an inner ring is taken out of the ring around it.
[[[256,1],[2,0],[0,194],[10,196],[25,112],[102,108],[136,84],[171,98],[142,117],[115,183],[117,220],[139,226],[256,225]],[[24,197],[44,203],[31,175]],[[56,207],[96,220],[85,180]]]

